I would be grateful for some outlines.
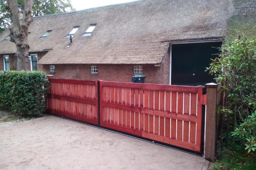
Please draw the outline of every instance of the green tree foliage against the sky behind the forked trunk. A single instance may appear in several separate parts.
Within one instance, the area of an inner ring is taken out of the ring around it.
[[[12,17],[6,10],[5,4],[9,0],[0,0],[0,34],[12,24]],[[17,0],[18,10],[23,12],[24,0]],[[73,11],[70,0],[34,0],[32,17],[44,14],[56,14],[60,12]]]

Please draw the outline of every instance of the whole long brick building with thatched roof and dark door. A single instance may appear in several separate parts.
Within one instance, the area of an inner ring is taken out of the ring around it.
[[[247,1],[243,10],[253,3]],[[134,74],[144,74],[146,83],[211,82],[205,67],[240,9],[234,2],[141,0],[33,17],[28,70],[69,79],[131,82]],[[0,70],[15,70],[9,30],[0,41]]]

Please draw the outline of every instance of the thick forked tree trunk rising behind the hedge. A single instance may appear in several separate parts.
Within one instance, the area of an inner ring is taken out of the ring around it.
[[[33,21],[31,19],[33,0],[25,0],[23,19],[19,20],[17,0],[10,0],[6,4],[6,9],[12,15],[13,26],[10,27],[10,41],[16,44],[16,57],[17,57],[17,70],[27,70],[29,44],[28,44],[28,31],[29,25]]]

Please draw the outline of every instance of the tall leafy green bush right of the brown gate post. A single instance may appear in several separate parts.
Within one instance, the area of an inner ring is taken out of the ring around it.
[[[239,137],[240,144],[245,144],[243,140],[253,142],[251,139],[255,139],[255,134],[253,136],[253,133],[247,133],[250,131],[247,121],[256,111],[256,38],[249,40],[239,37],[226,42],[220,50],[222,53],[213,59],[207,70],[215,76],[217,82],[222,82],[221,90],[224,91],[226,101],[217,112],[224,115],[222,124],[225,125],[223,134],[227,134],[226,145],[231,132],[237,132],[233,133],[236,134],[233,135],[234,148],[236,136]],[[237,126],[238,129],[241,128],[240,124],[245,129],[244,133],[237,131]],[[245,133],[247,135],[242,138]]]

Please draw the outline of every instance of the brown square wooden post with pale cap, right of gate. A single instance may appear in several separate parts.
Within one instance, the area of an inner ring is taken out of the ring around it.
[[[205,122],[205,159],[214,161],[215,136],[216,136],[216,96],[217,87],[215,83],[208,83],[207,88],[207,110]]]

